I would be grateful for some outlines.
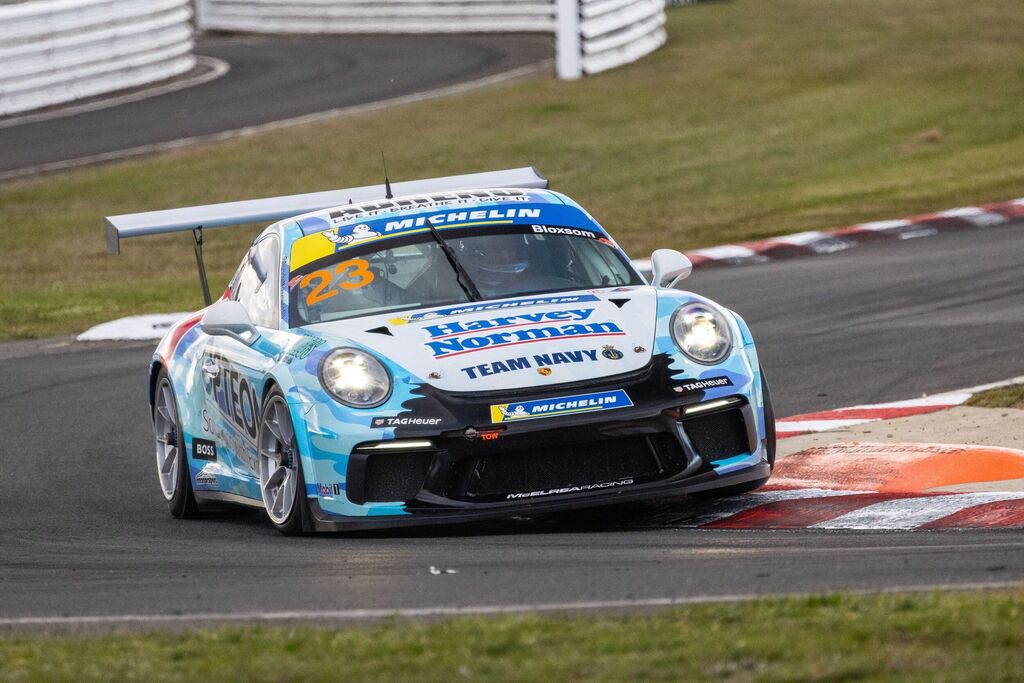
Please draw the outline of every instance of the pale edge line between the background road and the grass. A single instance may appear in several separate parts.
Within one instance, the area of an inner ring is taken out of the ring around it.
[[[495,74],[493,76],[486,76],[484,78],[476,79],[475,81],[468,81],[466,83],[450,85],[443,88],[436,88],[434,90],[425,90],[423,92],[416,92],[410,95],[400,95],[398,97],[391,97],[390,99],[381,99],[375,102],[367,102],[366,104],[353,104],[351,106],[342,106],[339,109],[329,110],[327,112],[318,112],[316,114],[306,114],[291,119],[271,121],[270,123],[262,123],[255,126],[246,126],[244,128],[236,128],[234,130],[225,130],[219,133],[211,133],[209,135],[195,135],[193,137],[182,137],[176,140],[168,140],[167,142],[155,142],[153,144],[143,144],[141,146],[131,147],[129,150],[119,150],[117,152],[104,152],[98,155],[79,157],[78,159],[69,159],[66,161],[51,162],[48,164],[39,164],[38,166],[29,166],[26,168],[19,168],[19,169],[14,169],[12,171],[6,171],[0,173],[0,181],[13,180],[15,178],[22,178],[30,175],[37,175],[40,173],[66,171],[73,168],[80,168],[82,166],[91,166],[92,164],[99,164],[103,162],[132,159],[134,157],[142,157],[145,155],[156,154],[158,152],[182,150],[198,144],[219,142],[222,140],[229,140],[236,137],[246,137],[249,135],[255,135],[256,133],[262,133],[268,130],[290,128],[292,126],[300,126],[307,123],[319,123],[322,121],[328,121],[342,116],[366,114],[369,112],[379,112],[381,110],[388,109],[390,106],[398,106],[399,104],[411,104],[413,102],[419,102],[426,99],[436,99],[438,97],[458,95],[465,92],[469,92],[470,90],[476,90],[477,88],[483,88],[487,86],[498,85],[501,83],[506,83],[508,81],[514,81],[520,78],[525,78],[526,76],[530,76],[532,74],[550,70],[552,65],[554,65],[554,59],[545,59],[543,61],[539,61],[534,65],[527,65],[525,67],[519,67],[517,69],[511,69],[509,71],[502,72],[500,74]]]

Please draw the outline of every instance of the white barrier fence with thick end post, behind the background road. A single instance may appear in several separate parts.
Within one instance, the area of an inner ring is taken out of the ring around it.
[[[579,78],[665,43],[665,0],[198,0],[203,29],[253,33],[554,33]]]

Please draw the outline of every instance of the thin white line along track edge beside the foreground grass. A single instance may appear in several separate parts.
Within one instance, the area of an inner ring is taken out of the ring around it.
[[[965,584],[910,585],[881,590],[838,591],[849,595],[883,595],[888,593],[924,593],[941,590],[981,591],[1019,588],[1022,582],[991,582]],[[118,625],[166,625],[222,622],[352,622],[388,617],[429,618],[438,616],[492,616],[537,612],[568,612],[615,610],[645,607],[675,607],[693,604],[745,602],[765,598],[805,598],[824,595],[814,593],[703,595],[640,600],[592,600],[584,602],[546,602],[521,605],[478,605],[466,607],[406,607],[395,609],[311,609],[294,611],[197,612],[194,614],[100,614],[95,616],[19,616],[0,618],[2,627],[75,627]]]

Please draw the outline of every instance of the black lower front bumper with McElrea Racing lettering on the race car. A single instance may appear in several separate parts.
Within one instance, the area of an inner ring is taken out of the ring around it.
[[[610,382],[558,387],[561,394],[623,389],[633,405],[501,425],[490,424],[486,411],[508,400],[507,394],[424,387],[415,405],[407,403],[409,414],[444,416],[441,424],[411,424],[384,438],[368,431],[347,455],[324,454],[319,462],[343,475],[344,483],[340,496],[309,497],[314,524],[344,530],[524,516],[766,478],[763,411],[753,373],[706,391],[680,391],[692,380],[677,375],[664,358]],[[392,447],[371,450],[381,443]],[[401,443],[414,447],[393,449]]]

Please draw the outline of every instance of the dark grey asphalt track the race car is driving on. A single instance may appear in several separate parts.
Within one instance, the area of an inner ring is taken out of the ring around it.
[[[780,416],[913,397],[1021,374],[1022,228],[703,269],[690,287],[746,317]],[[0,630],[33,616],[339,616],[1024,580],[1016,531],[674,528],[671,512],[698,504],[685,500],[301,539],[251,512],[179,521],[154,471],[152,345],[63,344],[0,347]]]

